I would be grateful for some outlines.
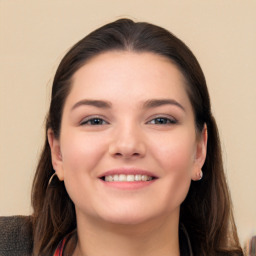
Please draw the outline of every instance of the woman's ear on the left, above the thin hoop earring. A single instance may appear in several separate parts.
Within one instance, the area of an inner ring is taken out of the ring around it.
[[[64,180],[63,161],[60,150],[59,139],[56,139],[52,129],[47,131],[48,143],[51,148],[52,166],[56,171],[59,180]]]

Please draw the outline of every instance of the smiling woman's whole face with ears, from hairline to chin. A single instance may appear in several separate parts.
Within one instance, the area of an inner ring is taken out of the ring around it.
[[[53,166],[78,216],[136,224],[178,218],[206,154],[185,80],[153,53],[100,54],[73,76]]]

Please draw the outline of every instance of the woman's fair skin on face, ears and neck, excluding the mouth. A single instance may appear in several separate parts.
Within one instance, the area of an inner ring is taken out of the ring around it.
[[[74,74],[60,138],[48,131],[53,167],[75,204],[73,255],[179,255],[180,205],[200,178],[207,144],[185,86],[178,68],[153,53],[103,53]],[[159,99],[171,103],[145,106]],[[117,168],[157,179],[138,189],[106,186],[99,176]]]

